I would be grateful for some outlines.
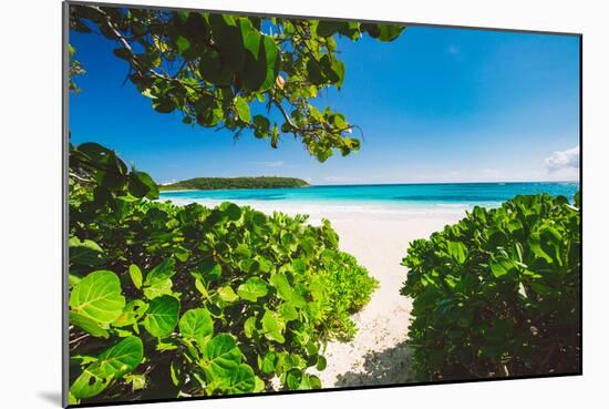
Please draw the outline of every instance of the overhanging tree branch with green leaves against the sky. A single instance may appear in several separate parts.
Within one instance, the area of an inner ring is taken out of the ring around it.
[[[156,111],[178,111],[186,124],[221,126],[236,136],[249,130],[272,147],[291,133],[322,162],[333,150],[347,155],[360,146],[344,115],[311,103],[343,83],[336,37],[392,41],[404,29],[84,4],[70,7],[70,24],[115,40],[114,54],[128,63],[130,80]]]

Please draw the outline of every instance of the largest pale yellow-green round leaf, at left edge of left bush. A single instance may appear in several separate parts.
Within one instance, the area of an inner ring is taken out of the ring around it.
[[[89,274],[70,294],[70,307],[83,317],[101,324],[115,320],[125,306],[118,276],[109,270]]]

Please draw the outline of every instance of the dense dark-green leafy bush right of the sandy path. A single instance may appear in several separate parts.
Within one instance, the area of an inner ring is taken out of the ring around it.
[[[516,196],[411,244],[402,294],[421,379],[580,370],[579,207],[579,194]]]

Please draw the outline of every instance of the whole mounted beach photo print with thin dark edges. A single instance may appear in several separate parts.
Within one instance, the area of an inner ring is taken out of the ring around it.
[[[66,2],[64,406],[581,374],[580,53]]]

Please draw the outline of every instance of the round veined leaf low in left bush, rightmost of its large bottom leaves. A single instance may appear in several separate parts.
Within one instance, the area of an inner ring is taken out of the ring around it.
[[[219,334],[205,345],[205,366],[220,378],[230,378],[241,362],[242,355],[235,339],[228,334]]]

